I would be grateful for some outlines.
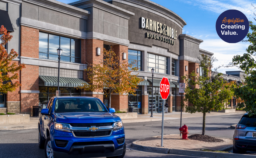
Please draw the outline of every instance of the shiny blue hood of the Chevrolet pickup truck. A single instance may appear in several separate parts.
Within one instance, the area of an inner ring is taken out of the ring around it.
[[[60,123],[106,123],[121,121],[120,117],[108,112],[55,113]]]

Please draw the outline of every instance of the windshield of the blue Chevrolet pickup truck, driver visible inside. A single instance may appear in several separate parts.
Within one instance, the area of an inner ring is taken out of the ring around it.
[[[59,98],[56,100],[54,112],[107,112],[107,110],[98,99]]]

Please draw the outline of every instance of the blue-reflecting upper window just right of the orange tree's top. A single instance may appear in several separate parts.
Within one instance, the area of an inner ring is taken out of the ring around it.
[[[138,67],[141,70],[141,51],[128,49],[128,62],[135,62],[134,67]]]

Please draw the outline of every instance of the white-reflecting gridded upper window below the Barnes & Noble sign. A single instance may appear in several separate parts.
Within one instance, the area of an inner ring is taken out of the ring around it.
[[[161,73],[161,74],[168,73],[167,57],[148,53],[147,64],[148,64],[148,71],[150,72],[152,67],[154,67],[155,73]]]

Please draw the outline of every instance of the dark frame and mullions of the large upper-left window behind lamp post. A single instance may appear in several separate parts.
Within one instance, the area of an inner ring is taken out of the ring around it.
[[[75,56],[71,56],[71,39],[76,39],[76,38],[70,38],[70,37],[66,37],[66,36],[61,36],[61,35],[56,35],[56,34],[51,34],[51,33],[49,33],[49,32],[43,32],[43,31],[39,31],[39,33],[43,33],[43,34],[47,34],[48,35],[48,40],[47,40],[47,42],[48,42],[48,46],[47,46],[47,52],[40,52],[39,51],[39,49],[38,49],[38,54],[39,53],[45,53],[45,54],[47,54],[47,58],[48,58],[48,60],[54,60],[54,59],[49,59],[49,54],[50,55],[56,55],[56,54],[52,54],[52,53],[49,53],[49,35],[54,35],[54,36],[59,36],[59,47],[60,47],[60,45],[61,45],[61,43],[60,43],[60,37],[64,37],[64,38],[69,38],[70,39],[70,56],[65,56],[65,55],[61,55],[60,57],[69,57],[70,59],[69,59],[69,62],[70,63],[76,63],[76,62],[71,62],[71,58],[73,57],[74,59],[79,59],[79,64],[81,63],[81,40],[80,39],[78,39],[79,41],[80,41],[80,57],[75,57]],[[57,49],[56,49],[56,52],[57,52]],[[39,58],[39,59],[43,59],[43,58]],[[61,58],[60,58],[60,61],[63,61],[63,60],[61,60]],[[63,61],[63,62],[67,62],[67,61]]]

